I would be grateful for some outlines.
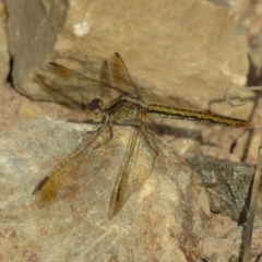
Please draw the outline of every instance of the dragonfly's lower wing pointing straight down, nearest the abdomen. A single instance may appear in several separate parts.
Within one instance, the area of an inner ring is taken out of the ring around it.
[[[130,139],[127,155],[121,165],[114,187],[109,217],[115,216],[150,177],[154,168],[157,150],[155,134],[148,132],[144,126],[135,127]]]

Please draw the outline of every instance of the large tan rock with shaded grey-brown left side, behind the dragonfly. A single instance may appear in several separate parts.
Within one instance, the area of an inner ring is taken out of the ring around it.
[[[118,51],[146,102],[250,115],[252,105],[233,109],[223,98],[226,88],[245,85],[248,72],[240,2],[233,8],[230,1],[69,5],[21,0],[17,8],[7,0],[7,5],[12,75],[15,88],[28,97],[82,105],[81,96],[53,92],[46,64],[55,61],[97,79],[102,62]]]

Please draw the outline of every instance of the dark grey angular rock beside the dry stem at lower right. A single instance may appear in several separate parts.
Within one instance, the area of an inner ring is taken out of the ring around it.
[[[209,191],[211,211],[243,224],[249,209],[254,166],[201,155],[188,157],[187,162]],[[258,221],[262,219],[261,210],[260,194],[257,202]]]

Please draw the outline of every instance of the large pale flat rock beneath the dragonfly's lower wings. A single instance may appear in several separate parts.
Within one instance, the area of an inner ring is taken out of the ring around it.
[[[112,142],[99,148],[105,154],[86,162],[86,175],[95,162],[100,167],[83,187],[46,207],[37,206],[32,195],[37,184],[91,135],[88,130],[88,124],[53,122],[43,116],[1,134],[2,261],[196,261],[218,253],[227,259],[239,255],[242,228],[221,240],[237,224],[212,215],[205,187],[159,140],[152,175],[108,219],[112,188],[132,131],[129,127],[114,127]],[[148,157],[143,160],[150,163]],[[219,229],[219,225],[224,226]],[[261,227],[254,234],[261,234]],[[227,245],[219,246],[218,252],[215,241]]]

